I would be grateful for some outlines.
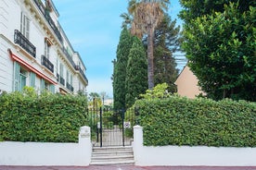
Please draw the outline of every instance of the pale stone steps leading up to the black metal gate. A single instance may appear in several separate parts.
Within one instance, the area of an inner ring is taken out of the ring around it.
[[[94,147],[91,164],[134,164],[133,147]]]

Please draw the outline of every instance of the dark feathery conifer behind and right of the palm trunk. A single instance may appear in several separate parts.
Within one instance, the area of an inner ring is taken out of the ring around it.
[[[171,17],[165,14],[154,36],[154,81],[155,84],[166,82],[170,92],[176,92],[174,81],[177,79],[178,70],[173,53],[181,42],[180,27],[175,24],[176,20],[172,21]]]

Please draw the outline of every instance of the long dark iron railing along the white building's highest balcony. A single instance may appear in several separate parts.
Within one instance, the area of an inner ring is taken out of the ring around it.
[[[33,1],[35,2],[36,6],[38,6],[38,8],[41,11],[41,13],[45,16],[45,19],[47,20],[47,22],[50,25],[50,27],[52,28],[52,30],[54,30],[55,34],[58,37],[58,40],[60,42],[63,42],[62,36],[61,36],[59,30],[56,27],[53,19],[50,17],[49,12],[47,10],[45,10],[44,4],[40,0],[33,0]]]

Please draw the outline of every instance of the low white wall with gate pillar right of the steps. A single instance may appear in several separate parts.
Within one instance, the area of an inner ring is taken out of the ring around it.
[[[143,128],[134,127],[136,165],[256,166],[256,148],[143,146]]]

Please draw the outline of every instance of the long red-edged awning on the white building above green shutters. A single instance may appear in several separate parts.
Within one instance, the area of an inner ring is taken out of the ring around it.
[[[14,55],[10,49],[8,49],[9,55],[10,57],[19,62],[19,64],[21,64],[24,67],[29,68],[33,73],[35,73],[37,76],[39,76],[40,78],[46,79],[47,81],[49,81],[52,84],[58,84],[56,81],[48,78],[44,73],[40,72],[38,69],[36,69],[35,67],[32,67],[29,63],[27,63],[26,61],[24,61],[23,59],[21,59],[19,56]]]

